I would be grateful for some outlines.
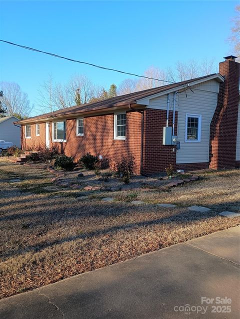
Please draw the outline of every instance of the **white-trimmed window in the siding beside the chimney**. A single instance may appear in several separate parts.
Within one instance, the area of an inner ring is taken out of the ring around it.
[[[201,115],[186,114],[185,141],[199,142],[201,140]]]

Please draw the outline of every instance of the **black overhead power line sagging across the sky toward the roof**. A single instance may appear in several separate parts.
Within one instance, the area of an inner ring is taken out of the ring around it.
[[[21,47],[21,48],[25,48],[25,49],[27,49],[27,50],[31,50],[31,51],[35,51],[35,52],[40,52],[40,53],[48,54],[48,55],[55,56],[55,57],[64,58],[65,60],[72,61],[72,62],[77,62],[77,63],[82,63],[82,64],[91,65],[91,66],[98,67],[98,68],[101,68],[101,69],[104,69],[104,70],[110,70],[110,71],[119,72],[119,73],[123,73],[123,74],[128,74],[128,75],[133,75],[133,76],[138,76],[138,77],[144,77],[144,78],[148,78],[148,79],[152,79],[152,80],[156,80],[156,81],[161,81],[161,82],[175,83],[175,82],[172,82],[172,81],[162,80],[162,79],[159,79],[159,78],[148,77],[148,76],[144,76],[144,75],[138,75],[138,74],[134,74],[134,73],[129,73],[129,72],[120,71],[120,70],[117,70],[117,69],[114,69],[114,68],[110,68],[110,67],[104,67],[104,66],[100,66],[100,65],[96,65],[96,64],[92,64],[92,63],[88,63],[88,62],[83,62],[83,61],[74,60],[74,59],[69,58],[69,57],[61,56],[61,55],[54,54],[54,53],[50,53],[50,52],[41,51],[41,50],[38,50],[38,49],[36,49],[36,48],[32,48],[32,47],[29,47],[29,46],[16,44],[16,43],[9,42],[9,41],[5,41],[5,40],[1,40],[1,39],[0,39],[0,41],[1,41],[1,42],[5,42],[5,43],[8,43],[8,44],[11,44],[11,45],[19,46],[19,47]]]

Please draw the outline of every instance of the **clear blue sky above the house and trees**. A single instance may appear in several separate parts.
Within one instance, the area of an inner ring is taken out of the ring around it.
[[[226,38],[237,1],[1,1],[0,38],[63,56],[141,74],[177,60],[218,62],[231,53]],[[15,81],[37,104],[51,74],[74,73],[96,84],[128,77],[0,43],[0,80]],[[32,111],[31,115],[35,112]]]

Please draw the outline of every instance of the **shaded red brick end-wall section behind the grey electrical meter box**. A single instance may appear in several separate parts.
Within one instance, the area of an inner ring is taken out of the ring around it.
[[[172,126],[172,114],[169,112],[169,126]],[[147,109],[144,111],[144,148],[143,172],[156,173],[165,167],[176,165],[175,145],[163,145],[163,126],[166,126],[166,110]],[[175,134],[177,130],[177,111],[175,112]]]

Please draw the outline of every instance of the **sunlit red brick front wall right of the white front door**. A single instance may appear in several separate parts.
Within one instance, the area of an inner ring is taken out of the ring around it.
[[[76,119],[66,120],[66,142],[51,142],[52,130],[49,130],[50,145],[56,144],[60,151],[78,160],[90,152],[92,155],[102,155],[110,166],[114,161],[120,161],[122,156],[132,154],[135,158],[135,172],[140,173],[141,145],[141,114],[126,112],[126,138],[113,139],[114,115],[96,115],[84,117],[84,135],[76,135]]]

